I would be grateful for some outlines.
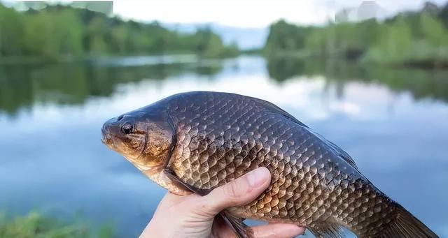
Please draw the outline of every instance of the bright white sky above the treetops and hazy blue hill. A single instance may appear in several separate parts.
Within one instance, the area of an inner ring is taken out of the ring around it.
[[[377,0],[391,15],[423,6],[427,0]],[[433,0],[442,5],[446,0]],[[125,19],[167,23],[214,23],[241,28],[264,28],[279,19],[297,24],[323,24],[342,8],[360,6],[360,0],[151,0],[113,2],[113,13]]]

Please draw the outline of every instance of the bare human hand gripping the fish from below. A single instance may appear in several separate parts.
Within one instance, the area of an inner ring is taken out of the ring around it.
[[[265,191],[270,180],[269,170],[258,168],[203,197],[167,193],[140,238],[236,237],[223,219],[215,216],[228,207],[252,202]],[[294,224],[267,224],[252,228],[256,238],[295,237],[303,234],[304,229]]]

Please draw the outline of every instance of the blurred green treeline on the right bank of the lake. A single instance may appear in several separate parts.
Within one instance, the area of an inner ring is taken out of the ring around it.
[[[302,27],[284,20],[270,26],[268,57],[344,57],[379,64],[448,66],[448,3],[432,3],[384,22],[329,23]]]

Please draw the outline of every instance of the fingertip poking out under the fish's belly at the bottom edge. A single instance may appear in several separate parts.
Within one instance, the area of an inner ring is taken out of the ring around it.
[[[296,237],[297,235],[303,235],[305,228],[294,224],[268,224],[252,227],[253,236],[255,238],[284,238],[284,237]]]

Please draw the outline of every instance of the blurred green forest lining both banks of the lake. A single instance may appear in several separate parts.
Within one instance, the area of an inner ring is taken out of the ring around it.
[[[448,3],[384,21],[328,22],[303,26],[274,22],[260,52],[265,57],[344,58],[363,63],[419,68],[448,67]],[[0,3],[0,59],[72,59],[104,55],[197,54],[235,57],[209,27],[186,33],[160,22],[141,23],[64,5],[18,11]]]

